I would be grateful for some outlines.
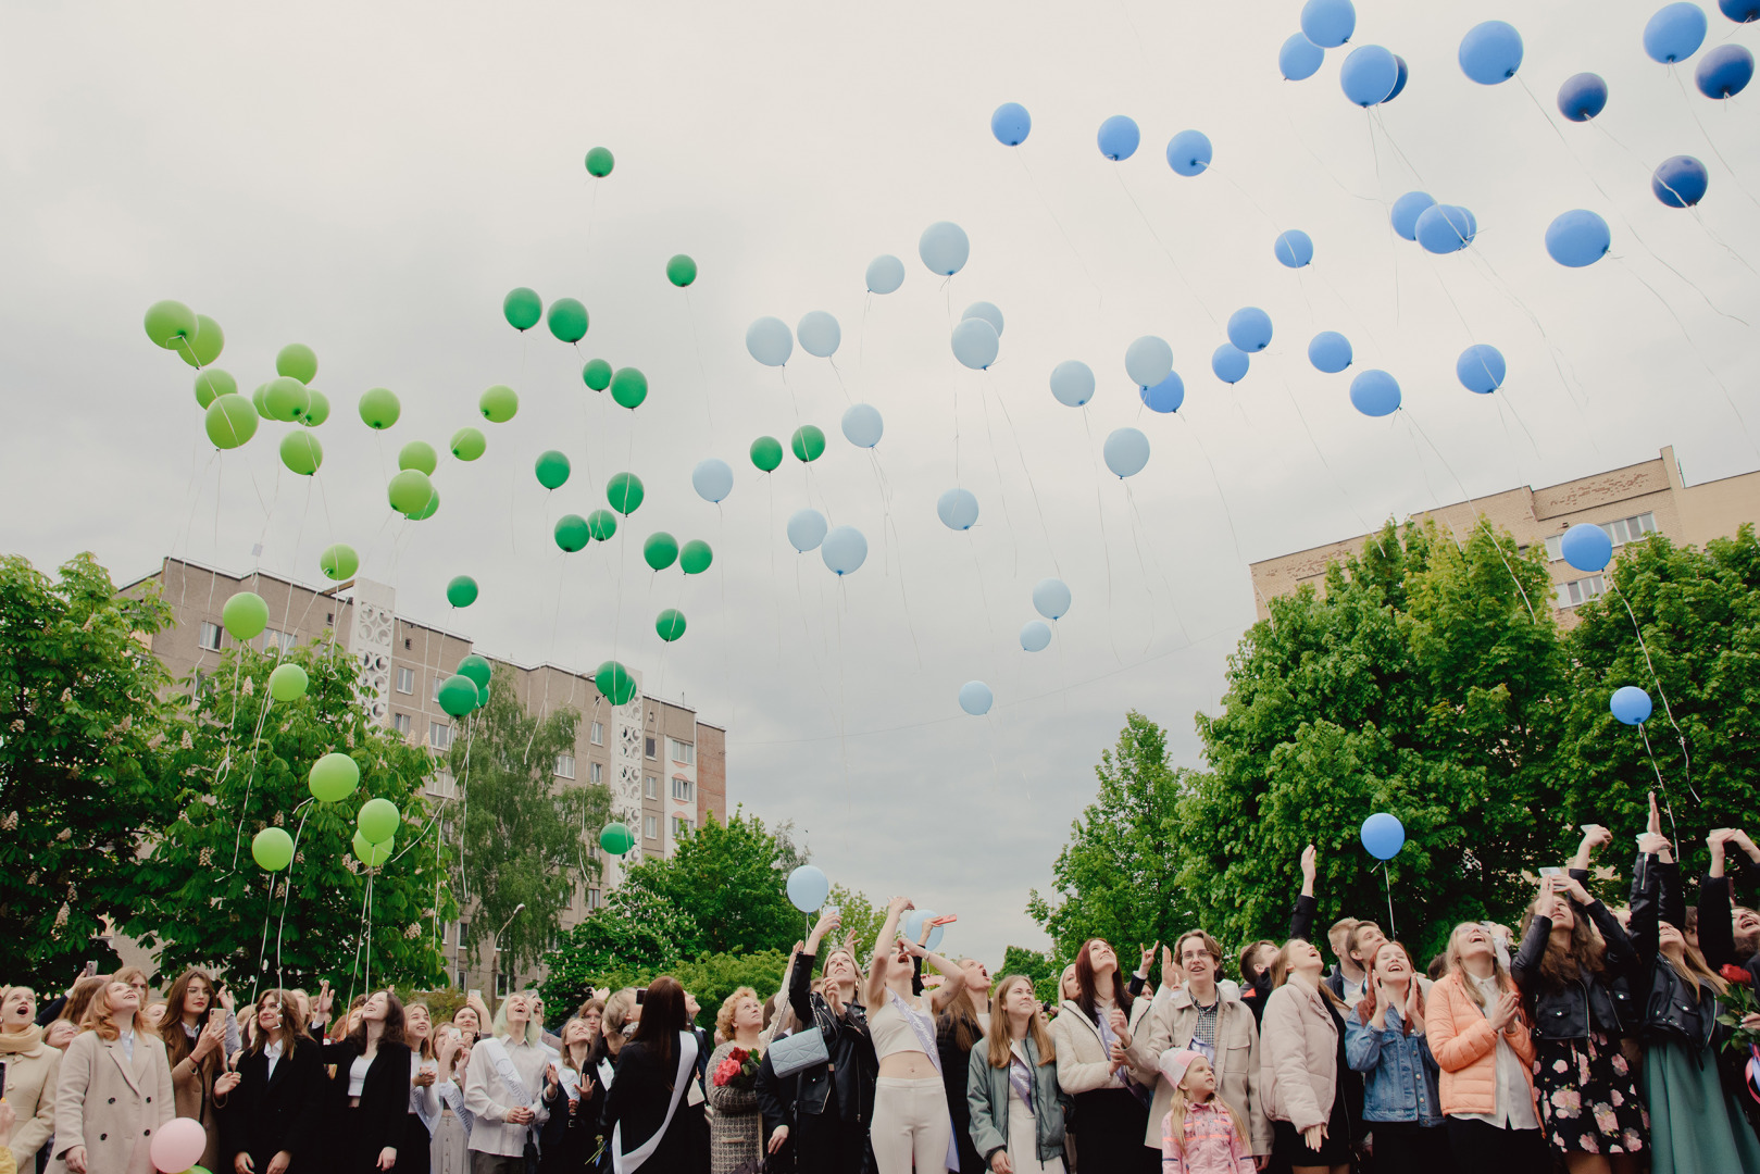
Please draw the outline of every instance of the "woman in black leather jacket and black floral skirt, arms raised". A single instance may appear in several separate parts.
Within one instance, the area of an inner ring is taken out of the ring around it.
[[[1649,1148],[1649,1114],[1619,1053],[1607,982],[1635,961],[1632,938],[1582,882],[1540,880],[1510,973],[1533,1023],[1540,1125],[1570,1174],[1630,1174]]]

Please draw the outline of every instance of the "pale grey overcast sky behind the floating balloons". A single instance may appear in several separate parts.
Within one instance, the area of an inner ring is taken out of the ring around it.
[[[1253,618],[1248,561],[1670,442],[1693,482],[1760,465],[1734,412],[1760,428],[1737,320],[1760,320],[1753,97],[1711,102],[1691,63],[1649,62],[1649,4],[1359,0],[1355,44],[1412,70],[1369,116],[1339,92],[1343,51],[1280,79],[1299,7],[12,5],[0,546],[40,567],[90,549],[118,581],[176,554],[310,583],[319,549],[350,542],[410,618],[523,664],[616,655],[725,725],[730,803],[794,820],[834,882],[959,914],[949,949],[1042,945],[1028,889],[1049,887],[1126,709],[1200,762],[1192,716],[1220,704]],[[1707,48],[1753,40],[1707,9]],[[1526,39],[1496,88],[1456,65],[1489,18]],[[1586,69],[1612,99],[1566,123],[1554,93]],[[1005,100],[1033,116],[1017,150],[989,134]],[[1144,143],[1112,164],[1095,132],[1119,113]],[[1186,127],[1216,148],[1197,180],[1163,158]],[[600,144],[616,171],[595,181],[583,155]],[[1711,169],[1697,215],[1649,194],[1676,153]],[[1410,188],[1471,208],[1473,248],[1396,239],[1387,206]],[[1612,227],[1591,269],[1542,246],[1572,208]],[[972,238],[950,283],[917,259],[936,220]],[[1313,236],[1309,269],[1274,260],[1283,229]],[[664,276],[678,252],[700,264],[688,297]],[[906,280],[869,297],[878,253]],[[502,320],[516,285],[586,303],[579,352]],[[334,412],[315,481],[280,466],[283,424],[215,458],[192,371],[141,329],[158,297],[225,327],[218,366],[246,391],[283,343],[317,350]],[[1007,315],[989,373],[949,349],[975,299]],[[1209,356],[1246,305],[1276,338],[1230,389]],[[746,324],[810,310],[841,322],[836,368],[797,349],[783,378],[748,357]],[[1320,329],[1350,336],[1352,371],[1308,364]],[[1123,371],[1149,333],[1186,380],[1176,417],[1146,414]],[[1456,382],[1471,341],[1508,357],[1501,393]],[[595,356],[648,373],[639,412],[583,385]],[[1070,357],[1098,377],[1086,410],[1047,389]],[[1350,407],[1371,366],[1404,389],[1390,421]],[[519,391],[510,424],[477,417],[495,382]],[[375,385],[403,400],[384,435],[356,414]],[[885,417],[875,459],[838,431],[852,401]],[[799,422],[827,431],[825,456],[759,473],[750,442]],[[433,519],[392,519],[398,447],[444,451],[465,424],[488,456],[438,470]],[[1098,456],[1121,426],[1153,445],[1128,482]],[[574,461],[553,495],[532,475],[549,447]],[[690,488],[706,456],[736,468],[720,510]],[[554,519],[602,505],[625,468],[648,486],[632,525],[561,556]],[[935,516],[956,481],[982,503],[970,533]],[[868,535],[857,574],[794,554],[783,523],[803,505]],[[715,569],[649,576],[653,530],[708,539]],[[463,613],[454,574],[482,584]],[[1074,607],[1028,655],[1045,576]],[[690,630],[662,651],[672,605]],[[959,711],[968,679],[994,688],[987,718]]]

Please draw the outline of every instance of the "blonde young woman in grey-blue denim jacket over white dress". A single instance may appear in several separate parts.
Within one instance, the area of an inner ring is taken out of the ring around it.
[[[996,984],[984,1037],[966,1061],[973,1163],[961,1160],[961,1172],[1063,1174],[1063,1100],[1033,980],[1008,975]]]

